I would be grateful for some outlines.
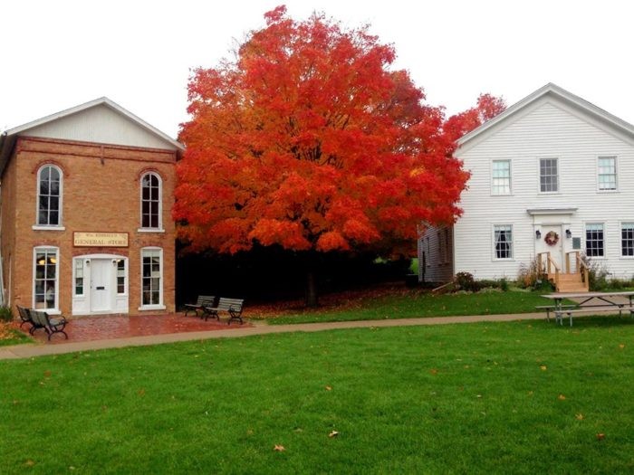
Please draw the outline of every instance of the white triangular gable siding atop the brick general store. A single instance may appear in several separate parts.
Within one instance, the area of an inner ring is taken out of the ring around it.
[[[105,105],[84,109],[29,129],[26,135],[131,147],[175,150],[173,144]]]

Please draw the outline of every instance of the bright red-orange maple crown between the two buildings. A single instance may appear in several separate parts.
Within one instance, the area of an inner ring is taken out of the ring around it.
[[[389,71],[393,47],[323,14],[264,18],[188,84],[174,217],[189,250],[413,249],[417,223],[452,223],[468,174],[443,109]]]

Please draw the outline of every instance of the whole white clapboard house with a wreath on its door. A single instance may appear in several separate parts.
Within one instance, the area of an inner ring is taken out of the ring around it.
[[[547,84],[460,138],[455,156],[471,173],[464,214],[421,235],[421,280],[514,280],[539,260],[558,290],[579,291],[584,255],[632,277],[634,126]]]

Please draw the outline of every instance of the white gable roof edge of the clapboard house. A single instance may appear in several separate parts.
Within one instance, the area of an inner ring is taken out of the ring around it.
[[[511,107],[504,110],[504,112],[495,116],[495,118],[491,120],[487,120],[480,127],[473,129],[468,134],[465,134],[461,138],[457,140],[458,147],[464,147],[467,143],[472,142],[474,139],[481,137],[485,134],[485,132],[490,131],[494,128],[497,128],[500,124],[506,122],[507,120],[514,118],[518,115],[518,113],[537,100],[541,100],[543,98],[554,98],[556,100],[560,100],[563,103],[571,106],[573,109],[581,110],[581,112],[586,113],[591,116],[591,118],[598,120],[599,122],[607,125],[610,128],[614,128],[621,133],[629,136],[634,140],[634,126],[629,124],[623,119],[619,119],[618,117],[610,114],[603,109],[595,106],[591,102],[587,100],[581,99],[579,96],[575,96],[572,92],[568,90],[564,90],[560,88],[556,84],[549,82],[543,88],[535,90],[532,94],[526,96],[523,100],[516,102]]]

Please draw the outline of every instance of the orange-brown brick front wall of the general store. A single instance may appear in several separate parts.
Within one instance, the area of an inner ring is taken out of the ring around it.
[[[46,163],[62,169],[63,231],[33,229],[37,172]],[[59,247],[59,307],[63,314],[72,314],[72,256],[100,252],[129,258],[129,309],[130,314],[139,313],[140,250],[157,246],[163,249],[163,303],[166,311],[174,311],[175,229],[171,210],[175,163],[176,152],[171,150],[18,138],[2,187],[3,255],[11,254],[13,264],[11,304],[33,305],[33,250],[35,246],[49,245]],[[138,231],[140,176],[147,171],[162,178],[164,233]],[[129,247],[74,247],[75,231],[128,233]]]

